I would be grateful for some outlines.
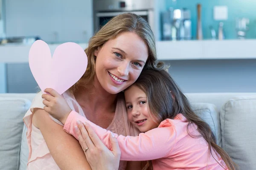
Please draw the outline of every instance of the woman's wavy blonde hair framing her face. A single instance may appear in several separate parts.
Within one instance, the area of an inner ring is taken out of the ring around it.
[[[70,88],[71,92],[75,92],[76,90],[78,90],[79,86],[86,87],[89,84],[89,82],[93,80],[93,77],[95,75],[96,61],[94,52],[97,50],[97,48],[102,47],[105,44],[105,42],[116,38],[119,34],[124,32],[136,33],[147,45],[148,59],[143,70],[148,68],[158,69],[163,67],[163,63],[156,63],[157,53],[154,34],[150,26],[148,25],[147,21],[145,21],[142,17],[136,14],[120,14],[116,17],[113,17],[93,37],[90,38],[88,47],[85,49],[85,53],[87,54],[88,58],[86,72],[81,77],[81,79]]]

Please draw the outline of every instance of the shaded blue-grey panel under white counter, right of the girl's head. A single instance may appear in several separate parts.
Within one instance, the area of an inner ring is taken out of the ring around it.
[[[166,61],[169,73],[188,93],[256,92],[256,59]]]

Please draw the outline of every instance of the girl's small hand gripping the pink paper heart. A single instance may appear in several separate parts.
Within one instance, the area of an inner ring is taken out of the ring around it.
[[[49,93],[42,95],[42,98],[45,99],[43,101],[45,105],[44,110],[52,115],[52,117],[65,124],[69,113],[72,111],[66,99],[52,88],[46,88],[44,92]]]

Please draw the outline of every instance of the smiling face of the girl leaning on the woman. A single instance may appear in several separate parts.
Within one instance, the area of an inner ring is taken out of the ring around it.
[[[146,94],[136,85],[125,90],[125,104],[129,121],[141,132],[158,127],[150,116]]]

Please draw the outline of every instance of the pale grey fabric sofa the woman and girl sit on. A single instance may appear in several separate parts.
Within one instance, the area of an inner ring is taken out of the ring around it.
[[[26,170],[28,147],[22,118],[35,94],[0,94],[0,170]],[[256,170],[256,93],[186,94],[211,127],[217,144],[239,165]]]

